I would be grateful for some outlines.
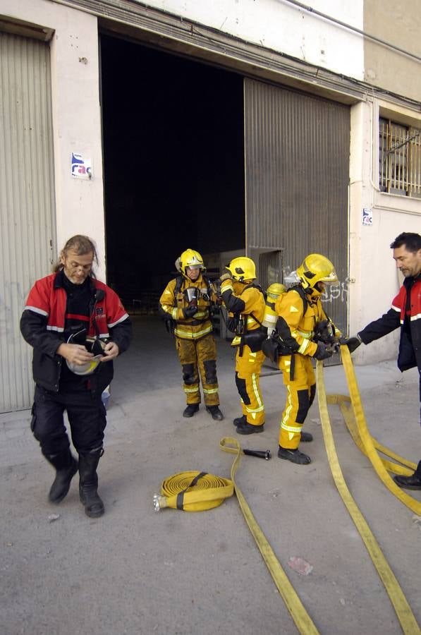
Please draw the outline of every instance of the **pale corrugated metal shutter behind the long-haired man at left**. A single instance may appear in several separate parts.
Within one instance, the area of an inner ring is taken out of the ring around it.
[[[19,319],[56,253],[49,45],[0,32],[0,411],[32,402]]]

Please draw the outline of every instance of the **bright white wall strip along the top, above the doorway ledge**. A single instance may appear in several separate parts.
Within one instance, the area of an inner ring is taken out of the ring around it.
[[[168,11],[335,73],[356,79],[364,77],[361,35],[286,0],[148,0],[139,4]],[[307,0],[302,4],[362,30],[364,0]]]

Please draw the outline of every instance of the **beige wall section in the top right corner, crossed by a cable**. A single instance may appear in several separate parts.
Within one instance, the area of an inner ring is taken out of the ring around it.
[[[403,53],[365,40],[365,81],[420,101],[421,99],[421,2],[365,0],[364,30]]]

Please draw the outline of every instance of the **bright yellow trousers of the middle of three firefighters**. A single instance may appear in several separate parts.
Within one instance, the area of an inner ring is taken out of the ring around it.
[[[243,415],[247,423],[262,425],[264,423],[264,404],[260,392],[260,369],[264,361],[264,353],[252,353],[247,344],[243,347],[243,356],[236,353],[236,386],[240,395]]]

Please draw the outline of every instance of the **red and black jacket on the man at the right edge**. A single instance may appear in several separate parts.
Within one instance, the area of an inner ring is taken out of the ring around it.
[[[398,368],[403,371],[417,366],[421,372],[421,274],[405,278],[389,311],[370,322],[358,335],[364,344],[370,344],[399,326]]]

